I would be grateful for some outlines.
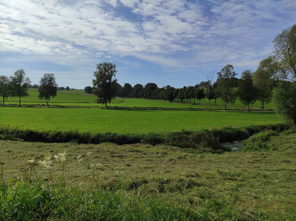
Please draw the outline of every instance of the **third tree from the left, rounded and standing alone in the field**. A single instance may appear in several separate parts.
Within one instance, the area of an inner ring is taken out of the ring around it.
[[[50,100],[50,97],[54,98],[57,96],[57,83],[55,81],[54,74],[44,74],[43,77],[41,77],[40,85],[38,87],[38,98],[40,100],[45,99],[46,105],[48,106],[48,102]]]

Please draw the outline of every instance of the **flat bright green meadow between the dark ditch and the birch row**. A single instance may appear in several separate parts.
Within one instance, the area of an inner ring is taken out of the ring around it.
[[[0,107],[4,125],[34,130],[79,129],[117,133],[195,130],[221,126],[277,124],[271,111],[147,111],[99,108]]]

